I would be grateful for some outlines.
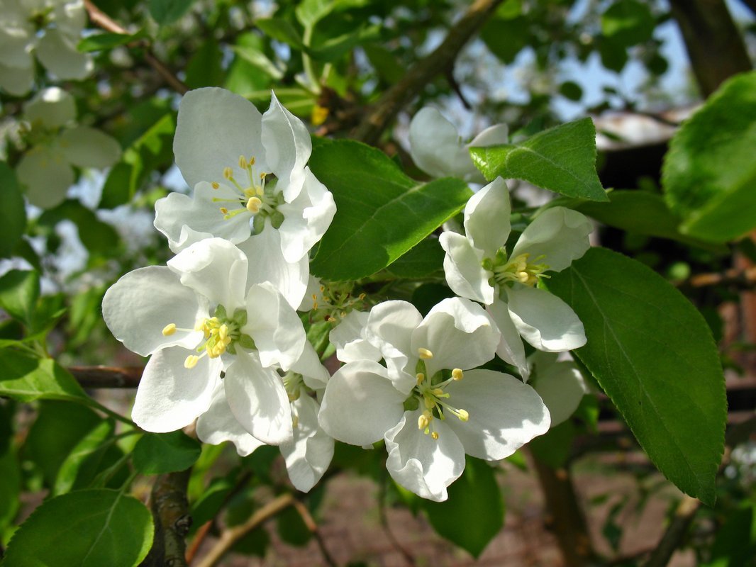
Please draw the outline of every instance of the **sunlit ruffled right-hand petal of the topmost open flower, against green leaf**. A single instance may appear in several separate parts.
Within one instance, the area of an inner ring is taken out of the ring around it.
[[[279,228],[281,249],[287,262],[302,259],[314,243],[321,240],[336,214],[333,195],[310,168],[305,168],[303,179],[302,191],[296,199],[278,207],[283,214]]]

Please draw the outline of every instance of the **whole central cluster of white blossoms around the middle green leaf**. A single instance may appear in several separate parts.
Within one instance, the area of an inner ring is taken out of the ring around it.
[[[439,120],[418,115],[414,147],[436,132],[437,151],[466,153]],[[494,127],[475,143],[506,137]],[[113,335],[150,356],[132,412],[138,426],[168,432],[196,421],[203,442],[230,441],[241,455],[277,445],[302,491],[323,476],[334,439],[383,441],[395,482],[445,500],[466,454],[503,459],[577,407],[580,373],[550,353],[583,345],[583,327],[538,283],[587,250],[582,215],[548,209],[508,252],[510,200],[497,179],[469,200],[466,234],[442,234],[457,297],[424,316],[399,300],[364,311],[370,299],[353,283],[309,276],[310,250],[336,205],[307,166],[305,125],[275,95],[261,114],[220,88],[189,92],[174,150],[193,193],[158,201],[155,227],[175,256],[126,274],[103,302]],[[418,165],[447,173],[431,150],[420,153]],[[454,153],[451,173],[476,179],[463,157]],[[342,363],[333,376],[297,310],[331,325]],[[520,337],[537,349],[529,358]],[[497,355],[520,376],[500,371]]]

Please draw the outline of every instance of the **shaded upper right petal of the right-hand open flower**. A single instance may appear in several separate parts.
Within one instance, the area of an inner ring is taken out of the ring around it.
[[[539,263],[551,271],[562,271],[590,248],[588,235],[593,224],[581,213],[563,206],[547,209],[525,228],[512,250],[512,257],[528,253],[531,261],[545,256]]]

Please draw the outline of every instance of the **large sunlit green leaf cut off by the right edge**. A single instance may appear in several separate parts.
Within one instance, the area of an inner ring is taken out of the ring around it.
[[[727,242],[756,228],[756,72],[725,82],[672,138],[662,169],[680,231]]]

